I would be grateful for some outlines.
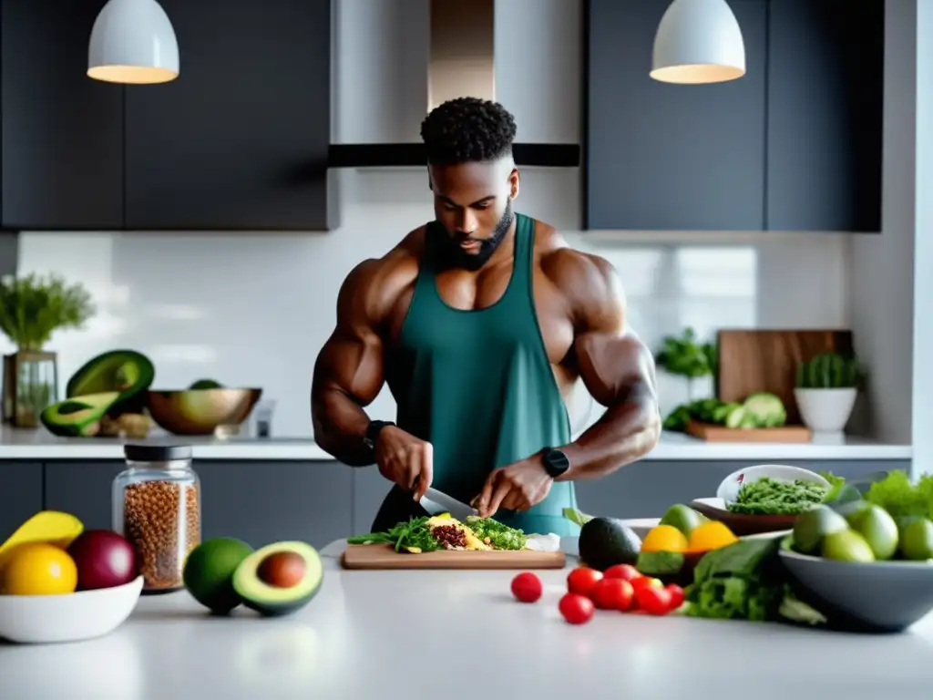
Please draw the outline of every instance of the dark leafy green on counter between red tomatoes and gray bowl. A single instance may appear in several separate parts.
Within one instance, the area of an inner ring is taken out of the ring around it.
[[[825,623],[791,590],[777,561],[780,539],[740,539],[703,555],[684,592],[690,617]]]

